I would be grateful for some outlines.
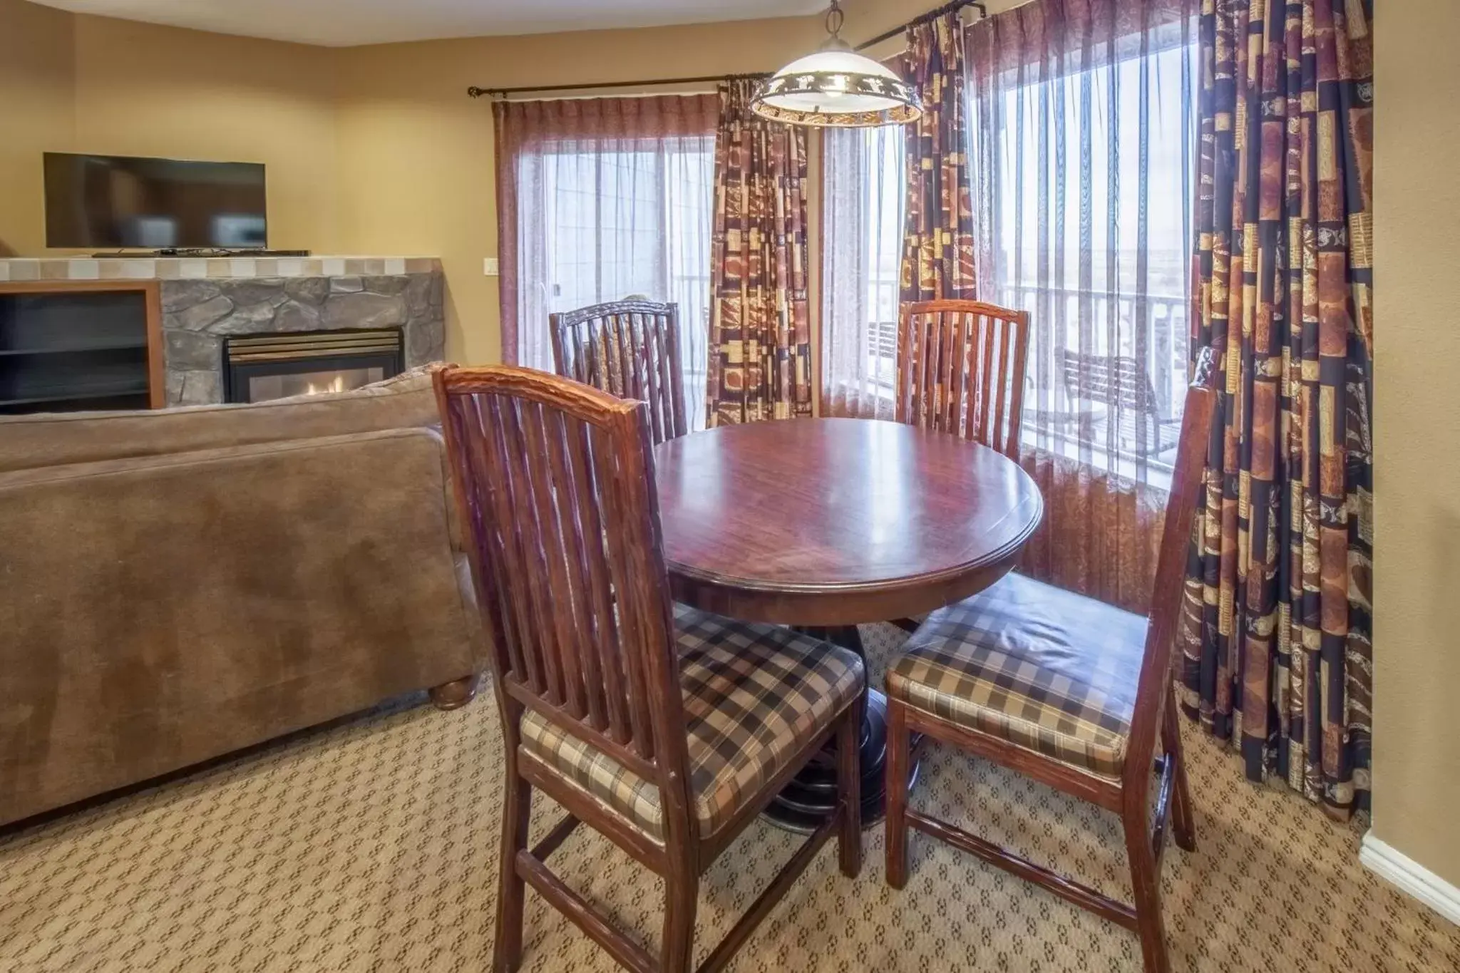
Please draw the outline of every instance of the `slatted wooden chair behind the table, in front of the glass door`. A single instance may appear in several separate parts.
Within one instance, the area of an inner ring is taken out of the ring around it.
[[[618,301],[549,315],[553,371],[648,403],[654,445],[689,432],[679,305]]]

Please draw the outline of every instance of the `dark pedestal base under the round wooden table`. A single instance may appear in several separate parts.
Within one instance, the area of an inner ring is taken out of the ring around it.
[[[861,648],[861,635],[856,626],[837,629],[800,627],[806,635],[826,639],[861,656],[866,668],[867,656]],[[863,699],[861,741],[858,745],[861,764],[861,826],[872,827],[888,813],[886,763],[888,763],[888,697],[869,689]],[[908,767],[908,789],[917,782],[918,761]],[[777,827],[788,831],[810,833],[837,813],[837,743],[812,759],[806,769],[791,778],[791,782],[765,808],[765,817]]]

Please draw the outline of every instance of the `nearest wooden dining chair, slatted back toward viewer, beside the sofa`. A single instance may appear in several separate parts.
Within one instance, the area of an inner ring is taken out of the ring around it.
[[[502,718],[493,969],[521,961],[526,883],[622,966],[685,973],[699,877],[835,735],[837,811],[699,967],[718,970],[828,836],[861,868],[861,661],[670,602],[644,403],[521,368],[435,387]],[[566,815],[529,849],[533,791]],[[657,957],[548,868],[580,821],[664,878]]]

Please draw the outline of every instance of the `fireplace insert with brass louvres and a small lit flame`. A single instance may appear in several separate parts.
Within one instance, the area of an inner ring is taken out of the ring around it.
[[[400,330],[229,338],[226,357],[231,403],[347,392],[400,373]]]

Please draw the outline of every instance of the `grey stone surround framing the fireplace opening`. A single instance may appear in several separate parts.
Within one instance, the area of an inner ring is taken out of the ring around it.
[[[162,337],[169,406],[223,401],[228,337],[400,328],[404,366],[445,353],[439,270],[333,277],[162,280]]]

